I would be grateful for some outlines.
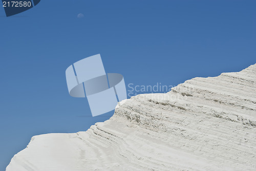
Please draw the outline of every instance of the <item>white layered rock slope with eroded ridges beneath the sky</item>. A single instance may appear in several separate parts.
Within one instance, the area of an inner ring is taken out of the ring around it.
[[[35,136],[7,171],[256,170],[256,65],[120,102],[86,132]]]

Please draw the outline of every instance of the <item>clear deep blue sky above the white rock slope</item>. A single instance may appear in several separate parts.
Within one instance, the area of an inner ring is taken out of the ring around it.
[[[256,63],[256,1],[50,1],[1,20],[0,170],[34,135],[86,131],[65,71],[101,54],[126,85],[177,86]],[[84,17],[78,18],[82,13]]]

